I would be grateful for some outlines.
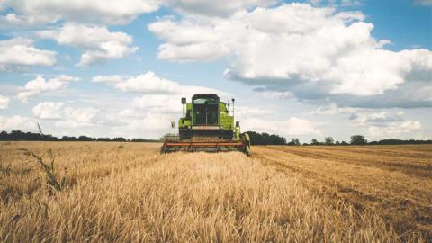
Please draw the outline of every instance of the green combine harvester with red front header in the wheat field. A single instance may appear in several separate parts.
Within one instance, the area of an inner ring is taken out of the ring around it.
[[[250,139],[234,126],[234,99],[220,102],[216,94],[195,94],[192,103],[182,98],[183,117],[178,121],[178,135],[166,135],[161,153],[176,151],[240,151],[250,156]],[[229,106],[232,104],[232,110]],[[175,127],[175,122],[171,122]]]

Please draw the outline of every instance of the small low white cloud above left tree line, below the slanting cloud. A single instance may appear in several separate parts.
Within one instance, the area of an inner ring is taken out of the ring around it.
[[[75,128],[93,125],[94,118],[99,112],[93,107],[73,108],[65,103],[43,102],[32,109],[33,115],[44,120],[56,120],[56,126]]]

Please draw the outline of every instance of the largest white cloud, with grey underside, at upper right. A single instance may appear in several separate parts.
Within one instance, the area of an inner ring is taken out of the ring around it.
[[[340,99],[353,106],[367,105],[371,96],[387,99],[388,106],[412,101],[416,95],[401,101],[391,94],[410,86],[410,76],[432,72],[432,52],[384,49],[389,40],[375,40],[374,24],[364,19],[360,12],[294,3],[226,19],[161,19],[148,28],[166,41],[159,46],[159,58],[229,58],[225,76],[261,91],[291,92],[302,100]],[[200,46],[205,48],[200,51]],[[411,105],[425,105],[425,100],[415,102]]]

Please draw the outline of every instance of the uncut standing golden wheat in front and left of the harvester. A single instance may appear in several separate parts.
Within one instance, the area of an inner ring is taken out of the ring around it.
[[[14,172],[26,158],[17,148],[36,154],[52,149],[57,175],[67,185],[49,193],[36,167],[1,175],[0,241],[401,240],[373,211],[356,211],[349,202],[317,193],[301,174],[266,166],[262,158],[240,153],[160,156],[158,146],[4,145],[0,158],[4,164],[10,161]],[[417,234],[403,239],[424,240]]]

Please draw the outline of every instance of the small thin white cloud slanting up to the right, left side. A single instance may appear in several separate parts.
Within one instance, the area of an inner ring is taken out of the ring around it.
[[[75,76],[60,75],[46,80],[42,76],[37,76],[24,85],[22,91],[16,94],[16,97],[23,102],[27,102],[28,98],[36,94],[42,94],[48,91],[64,88],[69,82],[80,80]]]

